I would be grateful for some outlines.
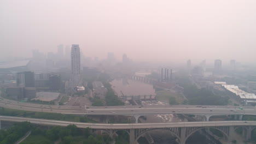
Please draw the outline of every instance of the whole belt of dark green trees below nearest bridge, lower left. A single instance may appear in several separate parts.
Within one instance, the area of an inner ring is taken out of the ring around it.
[[[51,128],[39,127],[32,125],[30,122],[15,123],[13,127],[7,130],[0,130],[0,144],[13,144],[21,139],[28,131],[28,136],[20,144],[110,144],[113,140],[108,135],[95,135],[91,133],[90,128],[79,129],[76,125],[68,125],[67,127],[55,126]],[[125,131],[117,131],[118,137],[115,137],[115,143],[128,144],[129,134]]]

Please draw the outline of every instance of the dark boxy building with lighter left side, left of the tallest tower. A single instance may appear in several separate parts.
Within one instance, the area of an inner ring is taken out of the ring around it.
[[[34,73],[31,71],[17,73],[17,85],[20,87],[34,87]]]

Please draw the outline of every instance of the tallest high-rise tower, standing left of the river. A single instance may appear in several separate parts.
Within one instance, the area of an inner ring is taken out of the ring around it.
[[[71,47],[71,80],[73,87],[82,86],[80,74],[80,48],[79,45],[72,45]]]

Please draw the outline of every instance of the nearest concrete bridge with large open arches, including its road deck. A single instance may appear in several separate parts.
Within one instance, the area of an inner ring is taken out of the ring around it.
[[[53,121],[48,119],[34,119],[23,117],[0,116],[0,121],[8,122],[31,122],[39,125],[60,125],[67,126],[75,124],[78,128],[89,127],[93,132],[98,130],[105,131],[110,137],[113,137],[117,131],[126,131],[130,136],[130,144],[136,144],[137,140],[145,136],[151,130],[170,131],[179,144],[185,144],[187,139],[200,129],[213,128],[221,131],[226,140],[234,140],[235,130],[243,128],[243,135],[247,140],[251,139],[252,131],[256,128],[254,121],[221,121],[221,122],[184,122],[184,123],[138,123],[138,124],[101,124],[101,123],[78,123]]]

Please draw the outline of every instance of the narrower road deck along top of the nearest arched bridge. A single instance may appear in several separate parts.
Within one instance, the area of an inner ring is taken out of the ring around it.
[[[35,119],[35,118],[9,117],[9,116],[0,116],[0,120],[9,121],[9,122],[27,121],[34,124],[60,125],[60,126],[75,124],[77,125],[78,128],[89,127],[92,129],[140,129],[140,128],[218,127],[218,126],[256,125],[256,122],[254,121],[104,124],[104,123],[80,123],[80,122],[54,121],[54,120],[48,120],[48,119]]]

